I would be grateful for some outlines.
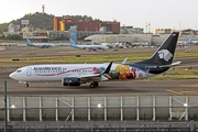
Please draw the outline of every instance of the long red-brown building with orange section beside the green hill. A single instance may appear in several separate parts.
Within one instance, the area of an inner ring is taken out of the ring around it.
[[[117,21],[85,21],[85,20],[75,20],[74,18],[66,16],[55,16],[54,18],[54,31],[69,31],[70,26],[77,26],[78,31],[86,32],[103,32],[103,33],[120,33],[120,22]]]

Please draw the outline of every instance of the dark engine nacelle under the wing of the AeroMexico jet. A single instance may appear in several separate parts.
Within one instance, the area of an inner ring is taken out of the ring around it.
[[[80,79],[77,77],[65,77],[62,79],[63,86],[80,86]]]

